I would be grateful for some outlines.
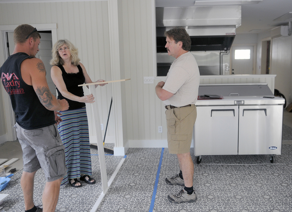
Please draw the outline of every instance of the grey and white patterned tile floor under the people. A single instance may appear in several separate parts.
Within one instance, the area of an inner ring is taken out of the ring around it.
[[[292,143],[282,145],[282,154],[271,164],[269,155],[203,156],[201,164],[194,165],[194,188],[197,202],[173,204],[169,193],[177,193],[180,186],[170,186],[165,178],[177,174],[175,155],[164,149],[157,193],[153,210],[152,194],[161,156],[161,148],[130,148],[112,186],[97,211],[175,211],[175,212],[291,212],[292,211]],[[91,149],[94,185],[81,188],[62,186],[56,211],[90,211],[101,191],[97,150]],[[193,149],[191,149],[193,155]],[[107,155],[107,176],[110,178],[122,156]],[[193,156],[194,160],[194,156]],[[20,188],[22,171],[16,173],[2,192],[9,193],[0,212],[24,211]],[[35,179],[34,199],[41,204],[45,180],[39,170]]]

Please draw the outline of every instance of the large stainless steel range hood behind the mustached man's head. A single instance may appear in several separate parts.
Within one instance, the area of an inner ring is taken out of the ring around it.
[[[190,51],[228,51],[241,25],[241,6],[157,7],[157,52],[166,52],[164,32],[184,26],[192,45]]]

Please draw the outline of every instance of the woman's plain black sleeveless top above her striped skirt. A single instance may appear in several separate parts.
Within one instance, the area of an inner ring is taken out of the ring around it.
[[[83,86],[78,86],[85,82],[85,77],[83,75],[81,66],[77,65],[79,72],[72,73],[72,74],[71,73],[68,74],[62,65],[57,65],[57,66],[62,71],[62,77],[63,77],[63,80],[65,82],[68,92],[74,94],[75,96],[83,97],[84,96]],[[67,99],[62,96],[58,88],[57,88],[57,91],[58,91],[58,99],[66,99],[68,101],[68,104],[69,104],[68,110],[75,110],[75,109],[85,107],[84,102],[73,101],[73,100]]]

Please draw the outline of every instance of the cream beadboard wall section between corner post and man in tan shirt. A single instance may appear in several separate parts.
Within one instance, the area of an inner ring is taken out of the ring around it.
[[[144,76],[154,76],[152,1],[123,1],[122,14],[123,65],[126,78],[131,78],[126,83],[128,139],[167,139],[162,101],[155,94],[159,80],[143,83]],[[163,126],[163,133],[158,133],[158,126]]]

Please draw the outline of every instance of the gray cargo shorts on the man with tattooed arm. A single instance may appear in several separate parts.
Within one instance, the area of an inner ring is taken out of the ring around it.
[[[23,152],[25,172],[42,168],[47,182],[66,175],[65,147],[55,124],[32,130],[23,129],[18,123],[14,127]]]

